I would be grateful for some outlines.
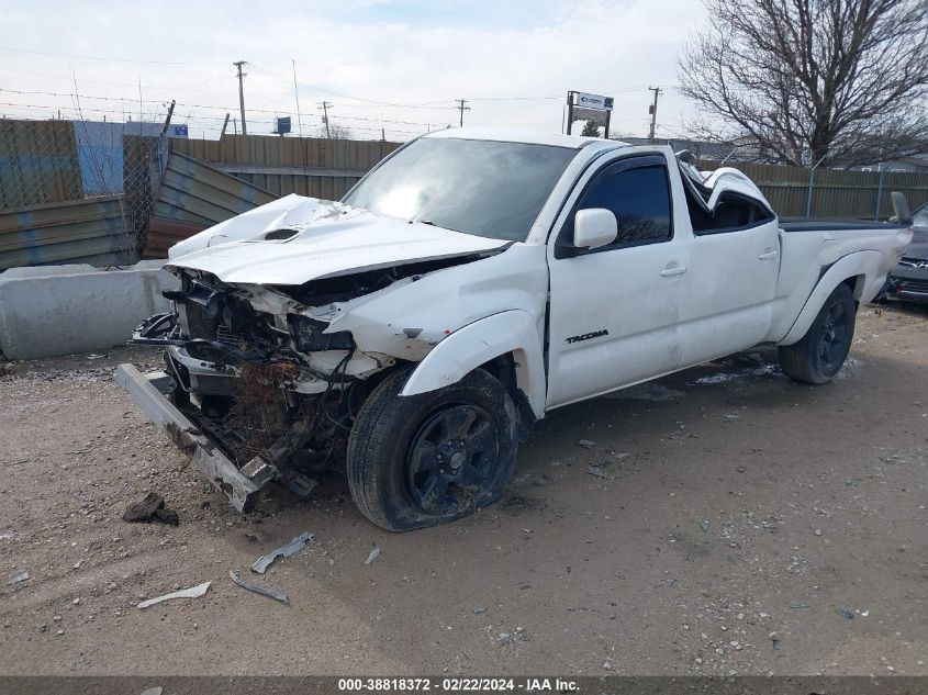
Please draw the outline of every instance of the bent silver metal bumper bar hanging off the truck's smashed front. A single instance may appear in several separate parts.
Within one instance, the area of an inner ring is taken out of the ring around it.
[[[275,477],[261,477],[261,483],[247,478],[183,413],[167,397],[171,379],[163,371],[143,374],[132,365],[120,365],[114,380],[153,423],[168,433],[178,448],[193,459],[193,464],[221,490],[239,512],[248,512],[256,494]]]

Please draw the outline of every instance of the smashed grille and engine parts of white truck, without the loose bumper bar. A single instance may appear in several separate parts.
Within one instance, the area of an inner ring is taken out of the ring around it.
[[[174,407],[251,483],[232,495],[223,481],[233,502],[275,479],[308,493],[304,472],[344,456],[365,378],[395,360],[360,352],[350,333],[324,333],[324,314],[275,289],[180,278],[165,293],[172,311],[131,341],[166,347]]]

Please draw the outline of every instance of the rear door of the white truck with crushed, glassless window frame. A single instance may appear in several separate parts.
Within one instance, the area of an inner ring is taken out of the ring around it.
[[[691,222],[681,367],[760,343],[770,330],[780,272],[780,226],[758,201],[723,193],[713,215],[691,205]]]

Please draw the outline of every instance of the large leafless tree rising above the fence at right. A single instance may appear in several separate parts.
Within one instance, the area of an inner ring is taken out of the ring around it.
[[[705,3],[709,25],[679,65],[704,132],[797,166],[928,149],[925,0]]]

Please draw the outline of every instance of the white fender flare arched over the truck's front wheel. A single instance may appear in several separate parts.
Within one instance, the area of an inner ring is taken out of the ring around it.
[[[457,383],[484,362],[512,352],[516,384],[528,399],[535,417],[541,418],[547,393],[541,339],[537,322],[525,311],[511,310],[481,318],[436,345],[410,374],[400,395],[417,395]]]

